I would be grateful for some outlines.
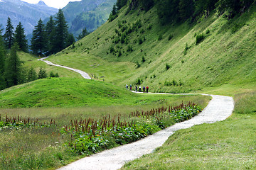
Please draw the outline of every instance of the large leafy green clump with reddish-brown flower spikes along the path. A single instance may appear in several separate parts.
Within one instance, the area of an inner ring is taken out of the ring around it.
[[[123,116],[123,120],[120,114],[113,118],[106,115],[101,120],[70,120],[70,126],[65,125],[61,132],[71,135],[67,145],[73,152],[89,155],[112,146],[140,140],[169,125],[188,120],[201,111],[195,103],[181,103],[175,107],[163,106],[150,111],[134,111]],[[139,121],[134,118],[139,118]]]

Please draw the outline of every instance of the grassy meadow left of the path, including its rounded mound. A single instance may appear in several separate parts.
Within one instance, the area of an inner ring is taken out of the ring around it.
[[[58,82],[66,84],[65,91],[69,91],[69,95],[65,95],[62,91],[64,88]],[[69,88],[68,84],[70,84]],[[71,88],[74,86],[77,87]],[[82,86],[88,89],[82,89]],[[51,89],[50,94],[48,94],[48,90],[44,89],[46,87]],[[80,93],[76,91],[78,89],[80,89]],[[38,91],[40,91],[39,94]],[[107,95],[107,93],[114,94]],[[50,95],[51,98],[49,98]],[[15,97],[11,98],[11,96]],[[36,98],[32,96],[36,96]],[[73,96],[72,100],[70,100],[70,96]],[[28,97],[29,100],[26,100],[25,98]],[[4,98],[8,98],[9,101]],[[48,99],[51,102],[41,101],[42,99]],[[1,91],[0,100],[1,120],[4,120],[6,116],[9,118],[19,116],[44,125],[43,127],[32,125],[31,128],[0,127],[0,169],[55,169],[73,162],[75,159],[85,157],[85,155],[73,152],[68,147],[67,144],[72,137],[70,134],[61,132],[63,126],[70,125],[70,120],[87,118],[97,120],[105,115],[117,114],[123,116],[129,115],[133,111],[149,110],[159,106],[176,106],[188,101],[198,103],[204,108],[210,97],[132,94],[124,88],[119,89],[102,81],[55,78],[42,79],[38,82],[34,81],[6,89]],[[32,102],[32,100],[34,101]],[[4,106],[3,103],[6,105]],[[11,103],[11,107],[9,103]],[[49,126],[51,121],[54,121],[54,125]],[[110,148],[115,146],[117,145],[111,145]]]

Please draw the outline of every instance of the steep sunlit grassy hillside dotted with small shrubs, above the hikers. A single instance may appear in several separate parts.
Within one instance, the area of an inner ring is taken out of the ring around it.
[[[188,92],[223,84],[255,87],[255,5],[232,20],[212,13],[193,25],[161,26],[156,8],[146,13],[127,10],[122,8],[114,21],[50,61],[119,86],[139,79],[152,91]],[[196,44],[201,33],[205,38]]]

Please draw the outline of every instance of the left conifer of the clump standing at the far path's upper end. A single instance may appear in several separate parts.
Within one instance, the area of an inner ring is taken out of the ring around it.
[[[47,50],[46,30],[43,21],[38,21],[38,25],[33,30],[31,39],[31,50],[33,54],[42,56]]]

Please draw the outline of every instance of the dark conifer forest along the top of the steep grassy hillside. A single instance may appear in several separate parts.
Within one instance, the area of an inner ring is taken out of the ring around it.
[[[228,11],[229,17],[233,18],[238,13],[243,13],[255,0],[117,0],[114,4],[109,21],[117,18],[118,10],[123,6],[140,8],[149,11],[156,6],[157,15],[162,24],[176,23],[190,19],[192,22],[201,16],[208,16],[211,11],[218,13]]]

